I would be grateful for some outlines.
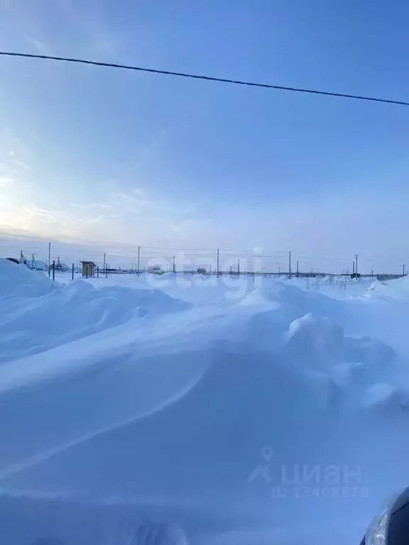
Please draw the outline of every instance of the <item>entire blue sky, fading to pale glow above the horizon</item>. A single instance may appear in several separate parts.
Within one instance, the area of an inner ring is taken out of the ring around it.
[[[403,0],[0,0],[0,50],[408,100],[408,20]],[[9,57],[0,82],[4,246],[409,270],[408,107]]]

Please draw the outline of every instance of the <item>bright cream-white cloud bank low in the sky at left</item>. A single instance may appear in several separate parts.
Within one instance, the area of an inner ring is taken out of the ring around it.
[[[38,197],[36,201],[40,202]],[[155,238],[163,238],[163,233],[185,236],[195,230],[194,224],[182,208],[148,198],[142,189],[112,194],[109,202],[58,207],[24,201],[18,187],[15,192],[4,194],[4,199],[0,196],[1,229],[57,237],[62,241],[152,244]]]

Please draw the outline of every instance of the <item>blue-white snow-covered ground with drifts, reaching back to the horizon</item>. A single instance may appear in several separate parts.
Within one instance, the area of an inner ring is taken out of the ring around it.
[[[408,483],[409,278],[56,280],[0,260],[1,543],[358,544]]]

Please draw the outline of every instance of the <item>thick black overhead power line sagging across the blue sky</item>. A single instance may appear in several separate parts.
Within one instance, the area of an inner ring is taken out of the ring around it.
[[[157,70],[155,68],[145,68],[132,65],[120,65],[115,62],[99,62],[96,60],[76,59],[70,57],[54,57],[52,55],[33,55],[31,53],[12,53],[10,51],[0,51],[4,57],[25,57],[30,59],[57,60],[62,62],[76,62],[82,65],[94,65],[109,68],[121,68],[124,70],[136,70],[138,72],[150,72],[151,74],[162,74],[165,76],[188,77],[191,79],[204,79],[208,82],[230,83],[234,85],[246,85],[248,87],[263,87],[264,89],[278,89],[280,91],[293,91],[297,93],[320,94],[327,97],[341,97],[343,99],[368,100],[372,102],[384,102],[386,104],[398,104],[400,106],[409,106],[409,102],[380,99],[378,97],[364,97],[357,94],[333,93],[328,91],[318,91],[317,89],[302,89],[300,87],[287,87],[285,85],[273,85],[268,83],[246,82],[241,79],[228,79],[224,77],[212,77],[198,74],[187,74],[185,72],[171,72],[170,70]]]

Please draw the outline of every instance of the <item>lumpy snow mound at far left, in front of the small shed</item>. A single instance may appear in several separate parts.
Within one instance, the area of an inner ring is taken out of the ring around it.
[[[0,260],[0,290],[0,362],[191,306],[160,290],[94,287],[82,280],[60,285],[8,260]]]

